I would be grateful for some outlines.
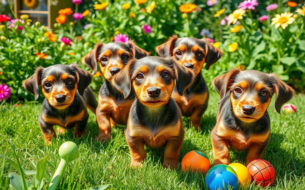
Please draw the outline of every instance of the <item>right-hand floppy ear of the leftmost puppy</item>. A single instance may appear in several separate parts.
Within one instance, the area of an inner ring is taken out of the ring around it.
[[[71,64],[70,65],[72,68],[76,70],[76,77],[77,77],[77,90],[78,93],[82,96],[84,95],[85,89],[90,85],[91,80],[92,80],[92,75],[87,72],[82,70],[77,66],[77,64]]]

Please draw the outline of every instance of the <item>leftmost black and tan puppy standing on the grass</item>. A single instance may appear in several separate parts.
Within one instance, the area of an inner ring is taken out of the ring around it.
[[[95,113],[97,102],[88,87],[92,76],[87,71],[71,65],[38,67],[35,73],[23,82],[23,87],[39,97],[39,86],[45,96],[38,122],[45,141],[51,143],[56,138],[53,129],[59,125],[64,129],[74,127],[74,136],[86,133],[88,121],[87,107]],[[64,130],[59,130],[63,132]]]

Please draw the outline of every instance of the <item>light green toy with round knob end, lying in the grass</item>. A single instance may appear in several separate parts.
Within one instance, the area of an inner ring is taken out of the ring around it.
[[[59,147],[59,156],[60,162],[58,167],[51,179],[50,185],[48,190],[56,190],[61,178],[63,177],[63,172],[65,172],[68,162],[73,161],[75,158],[78,157],[78,147],[74,142],[67,141],[63,143]]]

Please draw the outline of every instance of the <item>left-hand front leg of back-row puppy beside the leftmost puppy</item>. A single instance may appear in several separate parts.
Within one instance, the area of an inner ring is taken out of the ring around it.
[[[110,113],[105,112],[97,107],[96,109],[96,120],[99,125],[99,135],[95,140],[104,142],[110,140],[111,137],[111,125],[110,125]]]

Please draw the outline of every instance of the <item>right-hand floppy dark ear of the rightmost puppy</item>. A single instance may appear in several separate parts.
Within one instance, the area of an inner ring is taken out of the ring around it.
[[[276,74],[272,73],[270,75],[275,93],[275,109],[279,114],[281,114],[282,105],[289,102],[295,91],[289,85],[279,79]]]

